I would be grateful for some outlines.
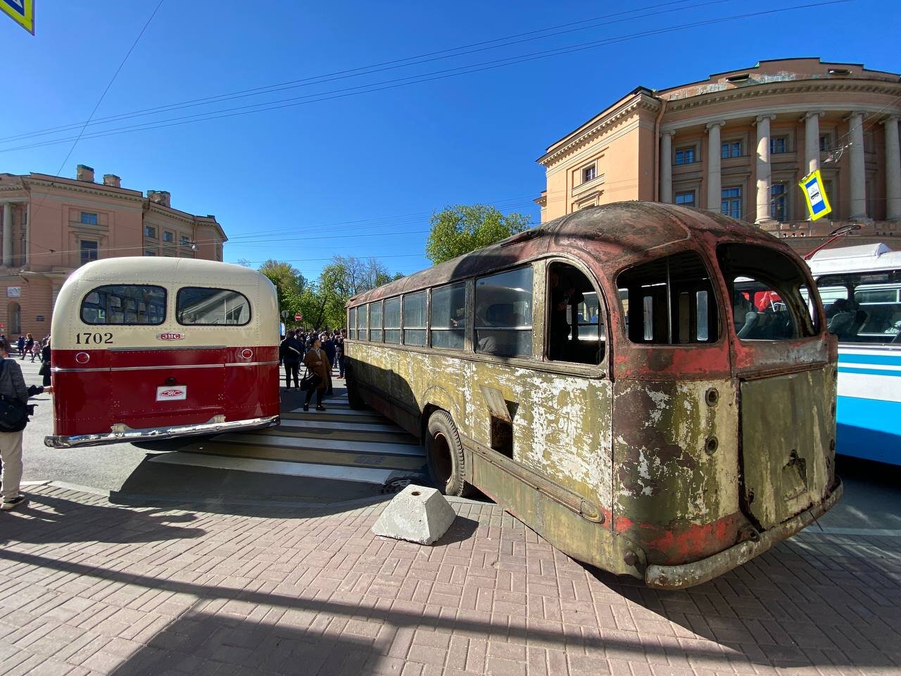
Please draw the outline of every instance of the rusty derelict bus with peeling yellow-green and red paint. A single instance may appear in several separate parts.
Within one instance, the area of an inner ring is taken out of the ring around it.
[[[652,587],[841,496],[837,345],[804,262],[749,224],[587,208],[353,297],[348,321],[351,405],[421,437],[439,488]]]

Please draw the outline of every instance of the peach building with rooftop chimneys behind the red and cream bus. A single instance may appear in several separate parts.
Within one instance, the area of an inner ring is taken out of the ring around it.
[[[114,256],[223,260],[228,240],[214,215],[175,209],[166,190],[103,183],[79,164],[76,178],[0,173],[0,333],[50,333],[53,304],[78,266]]]

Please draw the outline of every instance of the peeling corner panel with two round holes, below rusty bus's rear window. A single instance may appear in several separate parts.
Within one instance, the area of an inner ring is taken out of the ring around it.
[[[617,381],[614,530],[642,543],[649,562],[686,562],[734,544],[738,400],[731,379]]]

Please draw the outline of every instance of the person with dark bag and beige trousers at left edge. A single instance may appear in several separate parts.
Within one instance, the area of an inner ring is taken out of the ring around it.
[[[19,492],[22,482],[22,431],[28,425],[33,408],[28,397],[52,392],[53,388],[25,387],[22,367],[8,359],[10,351],[6,339],[0,341],[0,459],[3,460],[3,502],[0,509],[8,512],[24,505],[28,499]]]

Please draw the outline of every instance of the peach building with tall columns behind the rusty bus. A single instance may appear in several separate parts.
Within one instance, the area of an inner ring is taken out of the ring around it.
[[[901,249],[901,78],[820,59],[654,91],[638,87],[539,158],[542,222],[642,199],[716,209],[809,251],[845,223]],[[820,169],[833,214],[806,220],[798,181]]]

